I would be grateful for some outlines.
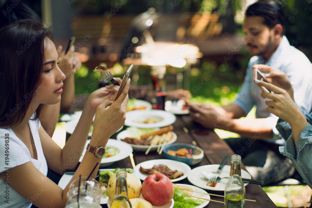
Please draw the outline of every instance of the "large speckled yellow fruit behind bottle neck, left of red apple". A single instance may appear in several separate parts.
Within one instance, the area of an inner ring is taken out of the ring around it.
[[[128,198],[139,198],[141,195],[141,183],[137,177],[134,175],[127,173],[127,190],[128,190]],[[111,201],[115,198],[115,189],[116,189],[116,173],[110,177],[107,186],[107,196]]]

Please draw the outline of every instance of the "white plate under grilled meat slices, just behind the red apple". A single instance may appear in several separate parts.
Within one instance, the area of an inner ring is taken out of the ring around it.
[[[177,171],[182,171],[184,173],[184,175],[179,178],[170,179],[171,182],[183,180],[184,178],[188,177],[188,173],[191,171],[191,167],[189,167],[184,162],[178,162],[176,160],[167,160],[167,159],[148,160],[145,162],[141,162],[134,167],[134,171],[136,172],[139,179],[144,181],[144,179],[148,177],[149,175],[141,173],[140,167],[142,166],[143,168],[147,169],[147,168],[152,168],[154,165],[166,165],[168,168],[170,168],[173,171],[177,170]]]

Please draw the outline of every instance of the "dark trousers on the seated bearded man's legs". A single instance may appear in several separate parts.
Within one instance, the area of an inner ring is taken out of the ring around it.
[[[263,180],[263,186],[291,177],[295,172],[289,158],[278,151],[278,145],[248,138],[225,139],[247,171],[256,180]]]

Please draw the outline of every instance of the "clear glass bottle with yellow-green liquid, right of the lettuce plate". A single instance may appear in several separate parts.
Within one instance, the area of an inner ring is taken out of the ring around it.
[[[224,207],[242,208],[245,202],[245,186],[241,182],[241,156],[232,155],[229,182],[224,189]]]

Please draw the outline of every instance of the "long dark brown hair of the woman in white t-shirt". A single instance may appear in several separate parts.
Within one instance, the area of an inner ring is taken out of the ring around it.
[[[0,127],[22,122],[38,90],[43,72],[45,41],[52,29],[35,20],[20,20],[0,30]],[[39,118],[42,105],[34,114]]]

